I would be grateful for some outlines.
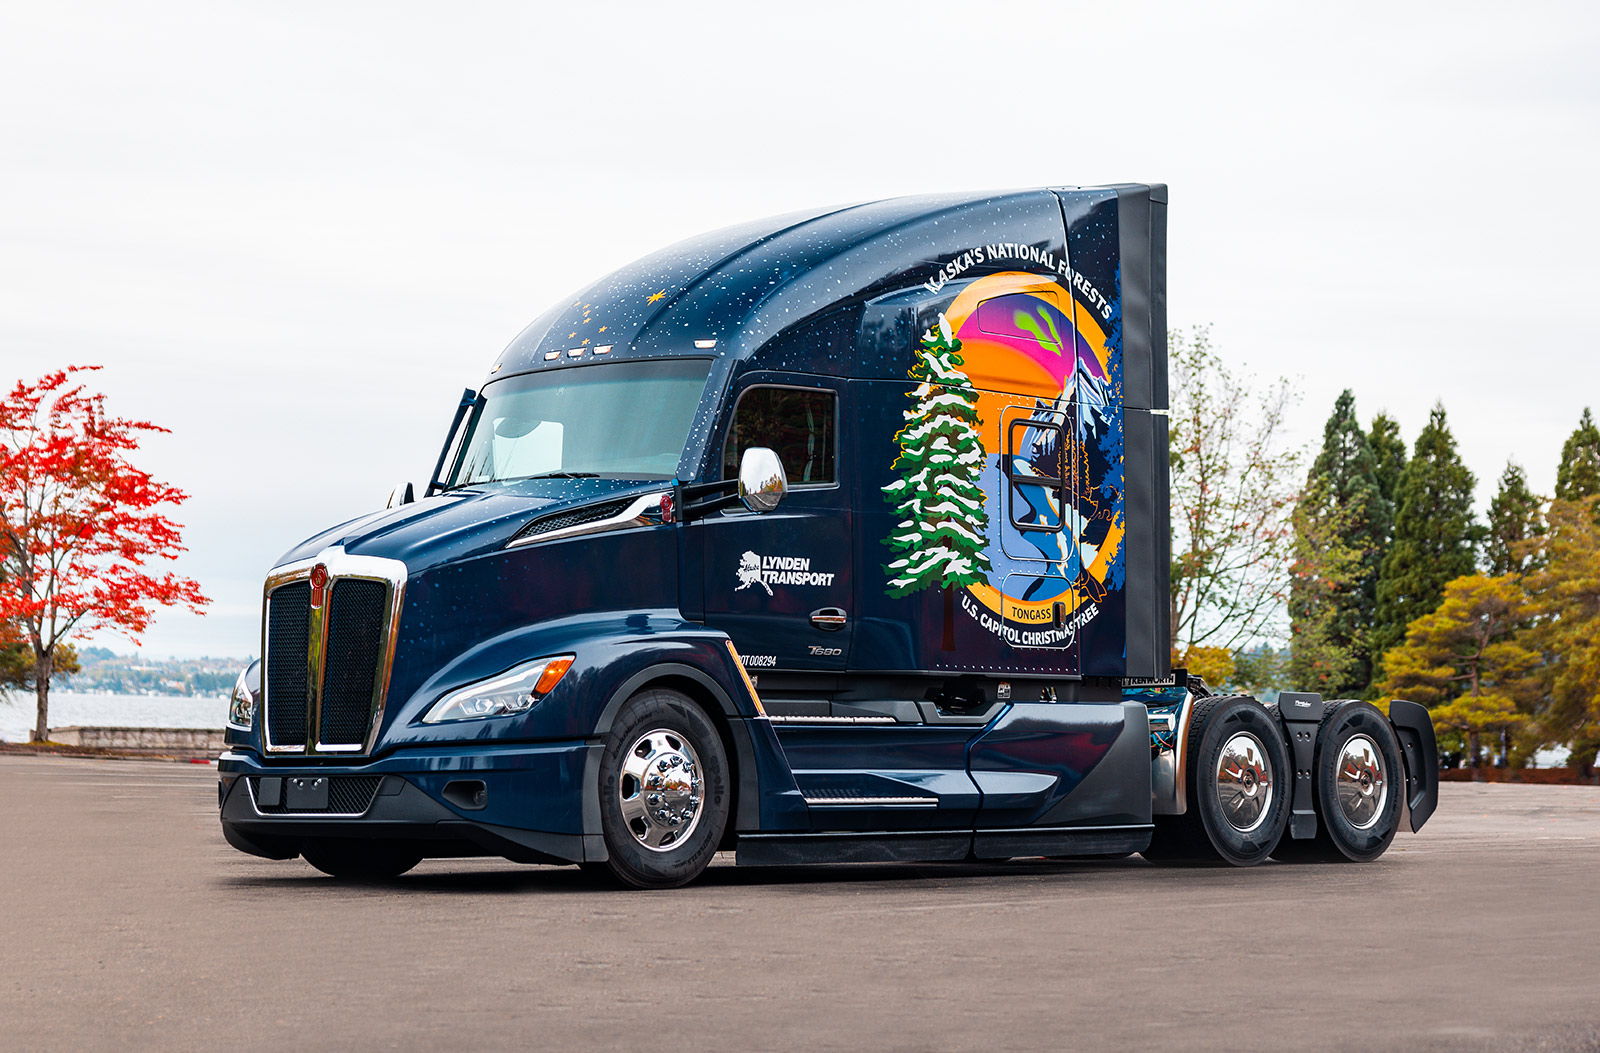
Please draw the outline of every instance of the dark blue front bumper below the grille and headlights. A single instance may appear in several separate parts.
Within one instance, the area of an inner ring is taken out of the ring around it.
[[[222,834],[269,859],[334,839],[408,842],[424,856],[605,859],[598,823],[584,815],[600,749],[584,741],[454,746],[358,765],[262,763],[227,752],[218,762]]]

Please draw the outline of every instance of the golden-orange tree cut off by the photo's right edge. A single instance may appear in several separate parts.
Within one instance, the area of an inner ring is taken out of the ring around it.
[[[1526,578],[1531,647],[1544,656],[1539,733],[1587,770],[1600,749],[1600,496],[1550,502],[1542,565]]]

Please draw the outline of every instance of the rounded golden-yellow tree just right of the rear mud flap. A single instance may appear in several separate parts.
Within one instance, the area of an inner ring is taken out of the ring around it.
[[[1382,693],[1427,706],[1435,731],[1461,741],[1477,768],[1483,736],[1509,735],[1528,720],[1541,656],[1517,634],[1526,618],[1514,575],[1456,578],[1438,608],[1384,655]]]

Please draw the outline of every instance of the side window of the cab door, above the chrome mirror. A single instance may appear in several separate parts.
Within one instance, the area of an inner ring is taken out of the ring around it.
[[[784,462],[790,486],[835,482],[834,446],[838,395],[816,387],[750,387],[733,408],[722,475],[739,474],[750,446],[766,446]]]

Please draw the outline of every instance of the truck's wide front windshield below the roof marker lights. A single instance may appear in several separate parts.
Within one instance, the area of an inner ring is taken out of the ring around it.
[[[707,358],[525,373],[483,389],[446,486],[534,475],[672,478]]]

